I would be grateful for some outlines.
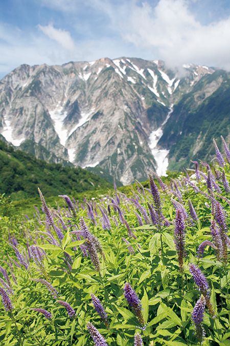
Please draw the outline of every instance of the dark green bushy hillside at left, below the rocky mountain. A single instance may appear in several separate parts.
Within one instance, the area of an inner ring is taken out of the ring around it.
[[[81,168],[48,164],[0,140],[0,193],[12,198],[37,197],[39,186],[47,196],[75,194],[85,190],[109,188],[110,184]]]

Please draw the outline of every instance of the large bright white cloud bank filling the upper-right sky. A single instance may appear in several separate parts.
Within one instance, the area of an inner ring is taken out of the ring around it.
[[[155,7],[131,2],[119,11],[111,11],[111,6],[105,10],[113,26],[140,52],[148,49],[171,66],[196,63],[230,69],[230,17],[202,25],[187,0],[160,0]]]

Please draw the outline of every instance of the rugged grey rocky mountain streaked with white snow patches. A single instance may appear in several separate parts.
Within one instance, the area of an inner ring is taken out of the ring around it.
[[[215,68],[126,57],[21,65],[0,81],[0,133],[38,158],[126,185],[183,167],[188,152],[212,154],[205,143],[229,132],[229,80]]]

